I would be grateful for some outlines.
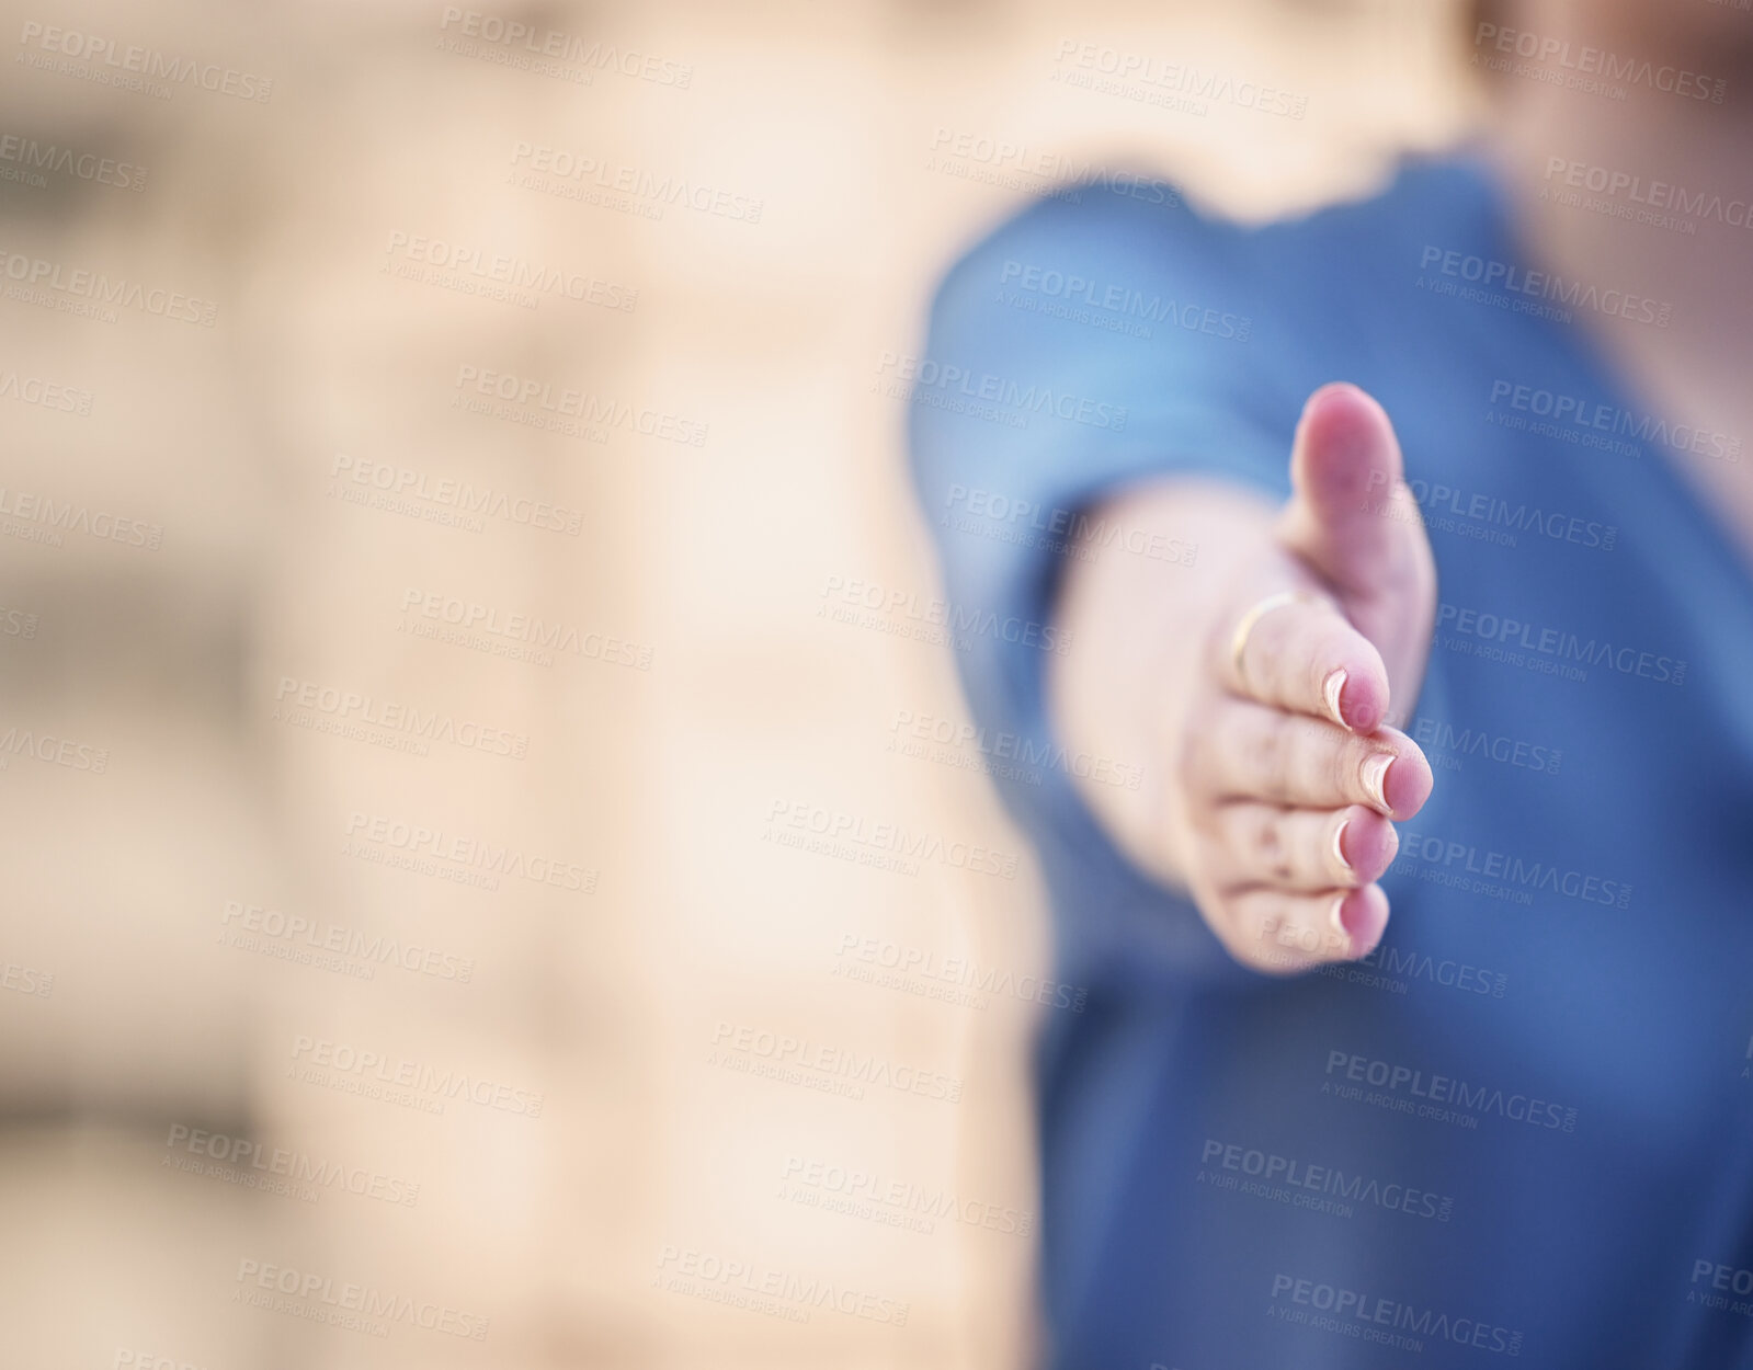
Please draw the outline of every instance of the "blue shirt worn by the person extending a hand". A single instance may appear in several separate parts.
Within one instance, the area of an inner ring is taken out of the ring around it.
[[[1530,272],[1466,161],[1264,228],[1073,189],[943,282],[913,475],[1057,976],[1087,990],[1038,1051],[1055,1365],[1753,1366],[1753,594],[1678,470],[1746,454],[1590,345],[1667,322]],[[1436,790],[1381,948],[1273,979],[1097,827],[1073,773],[1136,783],[1136,759],[1059,746],[1064,643],[1029,625],[1075,533],[1197,562],[1092,526],[1118,487],[1287,496],[1329,380],[1387,406],[1430,529],[1408,731]]]

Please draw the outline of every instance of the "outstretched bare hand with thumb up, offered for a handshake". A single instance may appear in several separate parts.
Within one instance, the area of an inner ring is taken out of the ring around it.
[[[1416,699],[1436,618],[1436,562],[1387,413],[1353,385],[1324,385],[1290,478],[1276,513],[1175,480],[1134,503],[1134,517],[1173,510],[1215,533],[1218,575],[1166,596],[1132,568],[1073,571],[1085,582],[1062,592],[1061,615],[1090,631],[1050,683],[1073,743],[1145,762],[1136,794],[1083,787],[1118,846],[1185,890],[1238,962],[1271,974],[1380,943],[1394,823],[1432,787],[1387,722]]]

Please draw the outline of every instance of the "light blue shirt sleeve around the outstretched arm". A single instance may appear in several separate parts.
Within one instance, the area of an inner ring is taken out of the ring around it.
[[[1173,203],[1082,189],[964,256],[910,382],[910,455],[943,564],[955,655],[994,766],[1041,857],[1061,976],[1252,981],[1190,902],[1097,827],[1073,771],[1127,783],[1131,759],[1068,755],[1043,708],[1059,564],[1094,503],[1175,471],[1288,494],[1295,398],[1274,384],[1245,230]],[[1090,522],[1085,519],[1083,527]],[[1096,526],[1097,545],[1190,564],[1196,548]],[[1031,764],[1034,762],[1034,764]],[[1113,766],[1118,762],[1118,766]]]

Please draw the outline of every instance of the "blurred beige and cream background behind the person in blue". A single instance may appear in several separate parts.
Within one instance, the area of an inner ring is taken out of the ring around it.
[[[424,0],[4,11],[0,138],[145,175],[124,189],[0,158],[0,254],[216,307],[205,328],[0,298],[4,508],[33,494],[163,529],[154,550],[0,526],[5,1363],[1026,1365],[1033,1235],[917,1230],[798,1184],[820,1163],[1038,1211],[1040,1009],[845,974],[848,939],[1011,976],[1040,974],[1047,950],[978,752],[891,750],[903,717],[962,720],[952,652],[819,613],[848,582],[940,592],[882,359],[919,349],[954,254],[1047,186],[982,180],[957,138],[1173,175],[1241,214],[1359,193],[1395,147],[1462,124],[1458,16],[1422,0],[480,11],[685,67],[682,88],[447,49],[463,26]],[[33,23],[272,93],[158,98],[44,70],[25,60]],[[1059,54],[1085,42],[1278,86],[1306,116],[1082,88]],[[733,214],[529,189],[521,142],[724,191]],[[386,272],[407,238],[596,280],[600,300],[522,308]],[[458,405],[465,368],[705,440],[540,431]],[[88,399],[32,403],[39,382]],[[344,459],[543,499],[577,533],[352,503],[340,491],[366,487],[333,484]],[[422,636],[405,606],[426,596],[621,639],[645,669]],[[284,678],[503,729],[526,755],[300,727]],[[1018,871],[799,851],[770,839],[777,804],[978,843]],[[375,823],[564,874],[484,888],[466,864],[398,867]],[[287,953],[305,943],[245,927],[293,918],[440,969],[303,964]],[[940,1072],[961,1100],[749,1074],[715,1055],[740,1030]],[[345,1070],[312,1077],[300,1042],[540,1093],[540,1116],[361,1095]],[[196,1130],[217,1140],[191,1153]],[[270,1170],[238,1163],[240,1144],[349,1179],[252,1188]],[[677,1284],[684,1261],[831,1282],[906,1321],[729,1307],[701,1296],[708,1279]],[[238,1275],[268,1267],[317,1291],[261,1307],[270,1291]],[[347,1284],[489,1319],[487,1335],[300,1316]]]

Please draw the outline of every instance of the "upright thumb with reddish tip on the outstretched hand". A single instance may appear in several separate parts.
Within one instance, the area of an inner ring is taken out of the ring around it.
[[[1381,405],[1357,385],[1322,385],[1297,422],[1280,543],[1355,604],[1434,580],[1404,470]]]

